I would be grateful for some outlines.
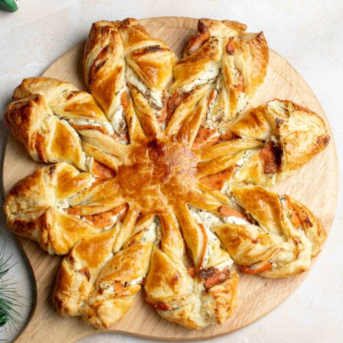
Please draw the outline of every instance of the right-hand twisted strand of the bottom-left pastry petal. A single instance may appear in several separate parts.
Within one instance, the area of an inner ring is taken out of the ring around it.
[[[134,227],[123,248],[106,262],[81,309],[85,322],[108,328],[130,309],[149,269],[155,230],[156,219],[145,218]]]

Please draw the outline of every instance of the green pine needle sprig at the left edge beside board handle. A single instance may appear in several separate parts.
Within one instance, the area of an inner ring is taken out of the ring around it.
[[[19,324],[22,318],[15,308],[25,306],[21,303],[24,297],[16,290],[16,283],[5,279],[5,275],[16,265],[16,263],[10,264],[12,255],[5,259],[5,245],[6,241],[0,249],[0,332],[7,332],[7,328],[10,331],[15,330],[16,324]]]

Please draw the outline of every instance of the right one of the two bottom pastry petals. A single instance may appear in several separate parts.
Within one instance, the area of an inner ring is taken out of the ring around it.
[[[193,211],[196,213],[196,211]],[[185,267],[185,244],[176,217],[161,216],[161,237],[154,245],[145,292],[160,316],[189,329],[222,324],[235,309],[238,275],[220,241],[188,208],[177,212],[187,246],[198,250],[195,267]],[[191,238],[196,237],[195,241]]]

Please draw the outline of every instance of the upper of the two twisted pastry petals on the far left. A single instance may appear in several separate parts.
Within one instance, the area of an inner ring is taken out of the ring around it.
[[[115,176],[121,145],[110,136],[113,128],[90,94],[60,80],[28,78],[13,97],[6,124],[35,161],[67,162],[97,180]]]

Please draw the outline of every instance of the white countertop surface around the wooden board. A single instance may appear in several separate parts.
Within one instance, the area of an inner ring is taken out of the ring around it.
[[[23,0],[17,12],[0,12],[0,118],[13,88],[24,77],[40,75],[58,56],[86,39],[93,21],[128,16],[232,19],[246,23],[250,32],[263,30],[270,47],[292,64],[316,93],[329,117],[343,166],[341,0]],[[1,154],[7,134],[1,120]],[[343,342],[342,209],[340,196],[324,250],[296,292],[267,316],[211,342]],[[0,223],[2,241],[6,236],[3,213]],[[32,298],[31,276],[11,235],[6,252],[13,252],[13,261],[19,261],[10,277],[25,285],[23,295]],[[28,311],[22,311],[24,324]],[[1,338],[12,340],[14,335],[2,332]],[[82,340],[117,341],[147,342],[119,334]]]

